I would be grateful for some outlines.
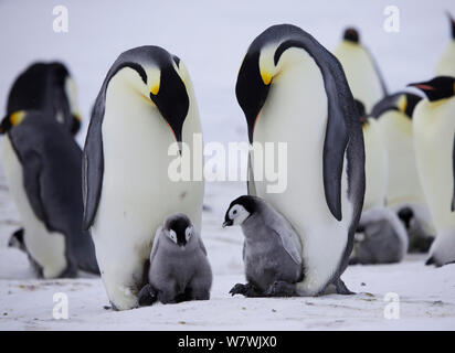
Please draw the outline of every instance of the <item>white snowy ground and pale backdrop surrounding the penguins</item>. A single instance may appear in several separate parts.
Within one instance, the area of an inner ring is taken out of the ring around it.
[[[55,1],[0,3],[0,106],[11,82],[35,60],[65,61],[80,87],[85,126],[91,105],[116,56],[159,44],[178,54],[195,87],[207,141],[244,141],[246,129],[234,85],[248,43],[271,24],[300,25],[334,49],[346,25],[357,25],[391,90],[430,78],[448,41],[444,14],[453,1],[60,1],[70,32],[52,31]],[[382,29],[383,9],[395,4],[400,33]],[[84,140],[85,129],[78,139]],[[343,275],[350,297],[231,298],[243,281],[242,234],[222,229],[229,203],[245,193],[236,182],[208,183],[203,231],[213,266],[212,299],[114,312],[98,278],[36,280],[27,257],[7,247],[19,218],[0,165],[0,330],[455,330],[455,265],[426,267],[424,257],[402,264],[353,266]],[[68,297],[68,319],[53,319],[53,295]],[[387,293],[399,296],[400,319],[385,319]]]

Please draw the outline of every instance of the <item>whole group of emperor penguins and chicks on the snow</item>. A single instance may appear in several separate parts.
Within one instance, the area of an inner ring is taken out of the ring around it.
[[[245,297],[351,295],[348,264],[430,252],[455,261],[455,21],[435,77],[389,94],[348,28],[334,54],[290,24],[273,25],[243,57],[235,95],[250,143],[287,143],[287,189],[254,178],[223,227],[244,234]],[[416,92],[416,90],[415,90]],[[35,63],[8,97],[1,163],[23,227],[9,246],[42,278],[100,275],[115,310],[208,300],[203,181],[171,181],[169,146],[192,163],[201,133],[183,62],[159,46],[121,53],[92,110],[83,151],[76,86],[64,64]],[[119,143],[121,141],[121,143]],[[182,145],[189,147],[183,149]],[[202,152],[202,151],[201,151]],[[78,175],[82,175],[80,178]]]

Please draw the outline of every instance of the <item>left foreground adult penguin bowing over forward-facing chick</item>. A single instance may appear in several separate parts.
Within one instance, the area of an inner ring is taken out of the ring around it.
[[[202,168],[192,160],[202,161],[195,133],[201,125],[183,63],[159,46],[120,54],[96,98],[83,161],[84,227],[92,227],[114,309],[136,306],[163,218],[184,213],[200,232],[202,178],[172,181],[168,173],[176,161]],[[179,146],[174,154],[171,145]]]

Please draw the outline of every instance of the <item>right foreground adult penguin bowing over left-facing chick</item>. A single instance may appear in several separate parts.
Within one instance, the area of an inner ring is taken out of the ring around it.
[[[267,192],[252,168],[263,162],[261,153],[252,149],[248,193],[263,197],[300,236],[305,278],[298,295],[315,296],[329,285],[349,293],[340,276],[363,203],[364,151],[341,65],[301,29],[274,25],[250,45],[235,89],[250,143],[287,142],[287,189]]]

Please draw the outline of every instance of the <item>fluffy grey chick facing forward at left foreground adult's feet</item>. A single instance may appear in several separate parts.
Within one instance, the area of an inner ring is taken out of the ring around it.
[[[139,306],[210,299],[212,269],[207,250],[183,213],[171,214],[157,229],[148,275],[149,284],[138,295]]]

